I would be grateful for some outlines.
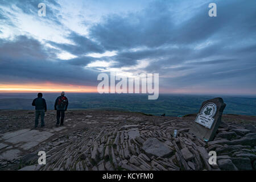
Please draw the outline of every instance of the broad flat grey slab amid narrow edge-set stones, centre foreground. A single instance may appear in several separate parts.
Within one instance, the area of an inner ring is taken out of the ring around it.
[[[146,152],[147,155],[155,155],[158,157],[166,157],[173,152],[171,148],[156,138],[148,138],[143,143],[142,149]]]

